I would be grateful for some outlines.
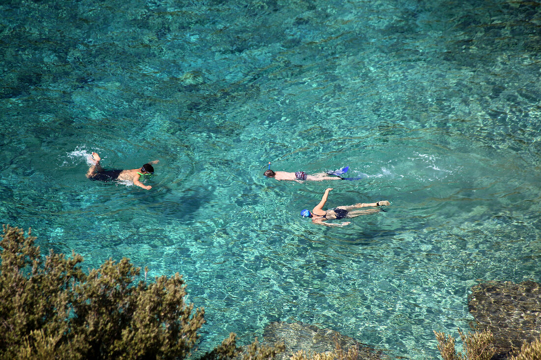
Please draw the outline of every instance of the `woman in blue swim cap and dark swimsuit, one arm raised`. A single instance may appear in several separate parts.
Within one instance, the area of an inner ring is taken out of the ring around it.
[[[323,210],[323,206],[325,206],[325,203],[327,202],[327,197],[329,196],[329,191],[331,191],[332,188],[327,188],[325,190],[325,194],[323,194],[323,197],[321,198],[321,201],[318,205],[315,206],[314,209],[312,209],[312,212],[308,210],[302,210],[301,216],[302,217],[309,217],[312,219],[312,222],[314,224],[320,224],[320,225],[326,225],[326,226],[346,226],[350,224],[349,221],[342,222],[340,224],[332,224],[332,223],[325,223],[326,220],[340,220],[344,218],[351,218],[351,217],[357,217],[360,215],[367,215],[367,214],[375,214],[376,212],[379,212],[380,209],[366,209],[366,210],[355,210],[360,208],[378,208],[379,206],[388,206],[390,202],[387,200],[378,201],[376,203],[359,203],[359,204],[353,204],[349,206],[337,206],[336,208],[329,209],[329,210]]]

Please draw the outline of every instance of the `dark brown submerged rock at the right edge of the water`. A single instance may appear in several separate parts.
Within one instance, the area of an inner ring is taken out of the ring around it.
[[[472,287],[468,296],[475,330],[490,330],[497,357],[541,335],[541,286],[532,281],[488,282]]]

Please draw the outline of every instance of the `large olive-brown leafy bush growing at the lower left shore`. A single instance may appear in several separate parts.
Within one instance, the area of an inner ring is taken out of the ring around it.
[[[23,230],[3,226],[0,359],[182,359],[199,339],[204,309],[184,303],[179,274],[135,283],[140,269],[127,258],[109,259],[86,274],[80,255],[66,258],[51,250],[43,258],[34,241],[30,231],[25,237]],[[254,342],[245,356],[274,356],[283,350],[277,345]],[[202,358],[227,360],[240,350],[230,334]]]

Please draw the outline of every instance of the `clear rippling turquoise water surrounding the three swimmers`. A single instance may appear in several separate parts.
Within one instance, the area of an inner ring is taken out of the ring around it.
[[[88,266],[184,274],[202,348],[271,321],[436,358],[478,281],[539,281],[528,2],[3,2],[0,220]],[[89,182],[160,159],[150,191]],[[357,182],[275,170],[348,165]],[[333,229],[302,221],[388,199]]]

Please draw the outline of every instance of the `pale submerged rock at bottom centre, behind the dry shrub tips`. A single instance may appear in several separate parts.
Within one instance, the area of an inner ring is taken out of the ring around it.
[[[273,322],[268,324],[263,332],[261,344],[270,346],[283,341],[286,350],[278,354],[276,360],[285,360],[299,350],[304,350],[307,354],[333,351],[336,349],[335,339],[338,339],[338,343],[345,352],[351,346],[358,346],[359,360],[388,359],[381,354],[381,351],[374,350],[371,346],[359,343],[337,331],[302,323]]]

